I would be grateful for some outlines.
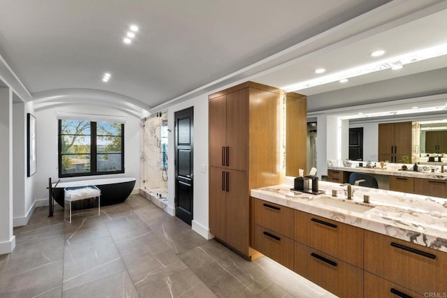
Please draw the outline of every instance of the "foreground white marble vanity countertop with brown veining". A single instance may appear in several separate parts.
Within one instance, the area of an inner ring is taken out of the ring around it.
[[[346,186],[327,181],[319,181],[318,186],[324,194],[291,191],[290,185],[283,184],[252,189],[251,196],[447,252],[446,199],[352,186],[353,200],[348,201]],[[336,198],[330,195],[332,190],[337,191]],[[363,202],[363,195],[369,195],[369,204]],[[336,207],[339,204],[357,206]],[[372,209],[354,211],[368,207]]]

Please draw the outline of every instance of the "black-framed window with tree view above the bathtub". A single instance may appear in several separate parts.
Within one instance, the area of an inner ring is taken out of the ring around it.
[[[59,177],[124,173],[124,124],[59,119]]]

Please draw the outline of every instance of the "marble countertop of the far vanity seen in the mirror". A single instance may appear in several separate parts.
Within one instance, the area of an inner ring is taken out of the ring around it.
[[[343,166],[342,167],[329,166],[328,170],[380,174],[380,175],[399,176],[399,177],[447,180],[447,173],[440,173],[440,172],[413,172],[413,170],[406,170],[406,171],[391,170],[391,169],[388,170],[388,169],[381,169],[380,167],[343,167]]]

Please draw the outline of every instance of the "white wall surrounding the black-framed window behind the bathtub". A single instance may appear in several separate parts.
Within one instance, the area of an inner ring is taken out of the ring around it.
[[[46,189],[48,178],[53,181],[59,179],[57,158],[57,129],[56,112],[73,112],[80,114],[101,114],[126,117],[124,124],[124,174],[112,174],[90,177],[64,178],[62,181],[82,179],[96,179],[105,177],[135,177],[135,188],[140,188],[140,119],[126,114],[120,110],[99,105],[72,105],[53,107],[48,110],[35,112],[37,127],[37,172],[35,196],[36,206],[47,204],[48,191]]]

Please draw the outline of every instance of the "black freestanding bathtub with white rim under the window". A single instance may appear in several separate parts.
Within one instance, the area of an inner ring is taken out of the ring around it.
[[[61,182],[54,188],[54,200],[61,207],[64,207],[64,188],[68,186],[94,185],[101,190],[101,206],[119,204],[129,197],[135,186],[135,181],[135,178],[104,178]],[[56,184],[52,185],[54,187]],[[85,207],[85,204],[73,206],[74,209]]]

